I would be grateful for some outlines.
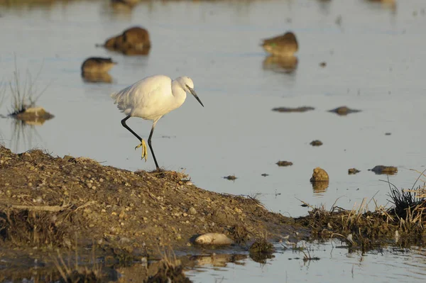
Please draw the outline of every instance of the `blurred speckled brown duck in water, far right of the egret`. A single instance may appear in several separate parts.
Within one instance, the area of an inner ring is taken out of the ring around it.
[[[292,56],[299,50],[296,35],[291,31],[263,40],[262,47],[275,56]]]

